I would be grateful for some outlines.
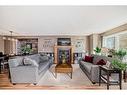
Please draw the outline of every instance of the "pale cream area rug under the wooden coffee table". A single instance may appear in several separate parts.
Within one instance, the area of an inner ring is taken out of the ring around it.
[[[95,86],[91,83],[85,73],[80,69],[79,64],[72,64],[73,74],[72,79],[68,74],[58,73],[55,78],[55,64],[45,73],[42,79],[38,82],[38,86],[59,86],[59,87],[80,87],[80,86]]]

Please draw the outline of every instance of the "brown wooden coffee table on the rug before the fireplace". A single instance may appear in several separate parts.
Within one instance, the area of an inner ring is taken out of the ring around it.
[[[57,78],[57,73],[70,73],[70,77],[72,79],[72,72],[73,72],[73,68],[71,64],[57,64],[55,67],[55,75]]]

